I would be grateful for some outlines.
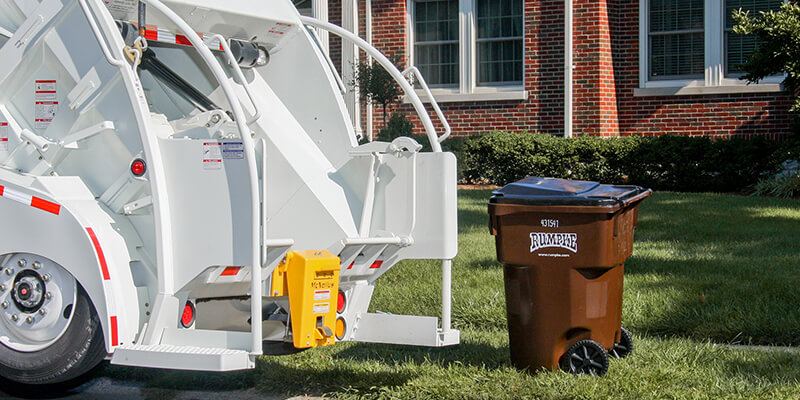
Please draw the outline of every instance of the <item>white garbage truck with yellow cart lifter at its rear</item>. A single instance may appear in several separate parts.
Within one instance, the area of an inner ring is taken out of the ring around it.
[[[431,151],[359,145],[320,31],[387,68]],[[456,159],[432,99],[289,0],[0,0],[0,378],[457,344]],[[441,260],[441,324],[370,312],[406,259]]]

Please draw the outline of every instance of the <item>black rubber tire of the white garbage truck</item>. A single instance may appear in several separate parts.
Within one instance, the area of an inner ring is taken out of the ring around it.
[[[52,345],[34,352],[20,352],[0,344],[2,389],[9,393],[65,390],[79,386],[106,357],[100,319],[89,296],[78,285],[72,321]]]

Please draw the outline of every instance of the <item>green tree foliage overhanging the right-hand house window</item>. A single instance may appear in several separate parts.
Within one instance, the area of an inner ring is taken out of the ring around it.
[[[784,3],[777,11],[734,11],[736,21],[733,31],[743,35],[756,35],[759,47],[741,65],[745,79],[755,83],[770,75],[786,73],[783,89],[794,98],[793,111],[800,111],[800,5]]]

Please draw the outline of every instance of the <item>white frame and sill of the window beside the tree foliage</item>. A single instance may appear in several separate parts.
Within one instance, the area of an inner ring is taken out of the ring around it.
[[[704,79],[649,80],[650,0],[639,0],[639,88],[634,96],[758,93],[780,91],[784,75],[770,76],[757,84],[725,76],[725,2],[705,0]]]

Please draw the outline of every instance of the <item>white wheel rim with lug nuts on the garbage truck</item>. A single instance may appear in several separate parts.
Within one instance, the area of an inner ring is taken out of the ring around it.
[[[0,260],[0,343],[20,352],[47,348],[72,321],[75,278],[35,254],[10,254]]]

